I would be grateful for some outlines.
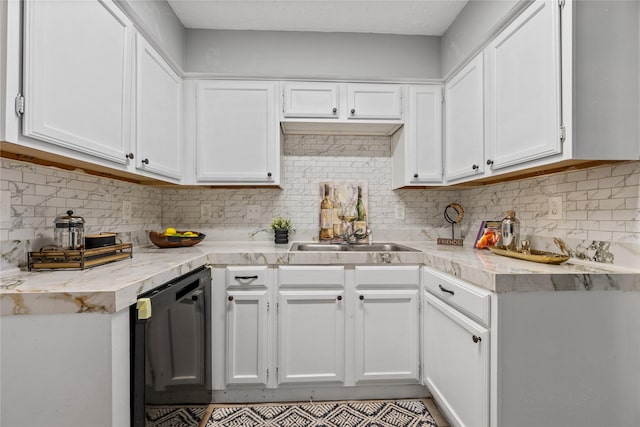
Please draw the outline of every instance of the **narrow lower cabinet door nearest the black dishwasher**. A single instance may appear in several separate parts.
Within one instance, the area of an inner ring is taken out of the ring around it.
[[[227,291],[227,384],[267,384],[267,290]]]

